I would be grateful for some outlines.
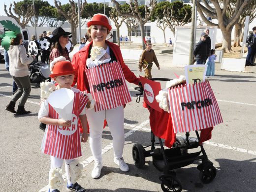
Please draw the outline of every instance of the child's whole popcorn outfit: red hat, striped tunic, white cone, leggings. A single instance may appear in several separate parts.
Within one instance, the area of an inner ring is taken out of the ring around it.
[[[72,64],[66,61],[64,57],[54,59],[50,65],[53,74],[51,77],[75,74]],[[47,90],[48,89],[48,90]],[[83,166],[78,160],[82,155],[80,131],[78,128],[79,115],[85,115],[89,96],[80,90],[70,87],[54,91],[55,87],[49,83],[41,84],[41,103],[38,112],[38,119],[50,117],[52,119],[71,120],[71,126],[47,125],[42,141],[41,151],[51,156],[51,169],[49,171],[49,192],[62,189],[62,164],[65,161],[65,172],[67,177],[67,189],[74,192],[85,192],[79,184],[76,183],[81,177]],[[54,91],[54,92],[53,92]],[[49,93],[50,92],[50,96]],[[49,96],[49,97],[48,97]],[[48,97],[48,98],[47,98]]]

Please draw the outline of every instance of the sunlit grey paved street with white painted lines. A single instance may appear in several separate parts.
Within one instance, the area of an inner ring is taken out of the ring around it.
[[[153,77],[175,78],[174,72],[184,75],[184,69],[169,67],[172,54],[158,55],[160,70],[153,66]],[[138,73],[138,61],[127,60],[129,68]],[[209,160],[217,168],[210,184],[203,184],[195,161],[177,169],[183,192],[256,192],[256,74],[216,71],[210,83],[218,100],[224,123],[216,126],[212,139],[204,143]],[[15,117],[4,110],[10,101],[12,79],[0,62],[0,192],[45,192],[48,184],[50,158],[40,152],[43,131],[38,128],[37,112],[40,88],[32,85],[25,108],[29,115]],[[103,131],[103,169],[97,180],[91,178],[94,166],[89,142],[82,145],[82,178],[78,181],[87,192],[161,192],[162,174],[146,158],[138,169],[133,164],[131,149],[136,142],[150,144],[149,112],[142,107],[143,98],[136,103],[134,85],[129,84],[132,102],[125,108],[126,143],[124,159],[130,171],[123,173],[113,162],[112,137],[108,128]],[[162,82],[162,87],[165,83]],[[195,133],[191,132],[195,137]],[[198,149],[196,149],[198,150]],[[194,150],[193,150],[194,151]],[[66,180],[64,180],[66,184]],[[63,189],[66,192],[66,189]]]

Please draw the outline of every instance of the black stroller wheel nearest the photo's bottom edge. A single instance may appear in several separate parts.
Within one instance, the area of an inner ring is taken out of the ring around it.
[[[163,192],[181,192],[181,182],[174,176],[166,176],[161,179],[161,189]]]

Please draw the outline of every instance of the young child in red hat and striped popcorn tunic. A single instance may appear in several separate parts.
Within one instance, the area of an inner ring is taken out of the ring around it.
[[[41,150],[42,153],[51,156],[51,169],[49,171],[48,184],[50,189],[48,192],[60,192],[63,187],[61,171],[63,161],[65,161],[67,190],[85,192],[86,190],[76,183],[81,177],[81,171],[83,169],[83,165],[76,160],[76,158],[82,156],[78,122],[80,120],[83,128],[81,141],[86,142],[88,135],[85,108],[89,108],[91,102],[87,95],[71,87],[74,74],[76,74],[77,71],[73,69],[69,61],[66,61],[62,56],[55,58],[54,61],[51,62],[50,69],[52,71],[50,76],[58,83],[57,89],[70,89],[75,95],[72,108],[72,122],[61,119],[59,117],[60,115],[54,110],[50,103],[48,103],[47,99],[41,103],[38,112],[39,121],[47,124]],[[72,129],[67,129],[70,126]],[[65,133],[63,132],[64,129],[66,130]]]

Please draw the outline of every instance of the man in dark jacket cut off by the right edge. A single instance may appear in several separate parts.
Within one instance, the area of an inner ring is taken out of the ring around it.
[[[254,27],[253,32],[248,35],[246,42],[248,43],[248,54],[245,66],[255,66],[254,56],[256,54],[256,27]]]

